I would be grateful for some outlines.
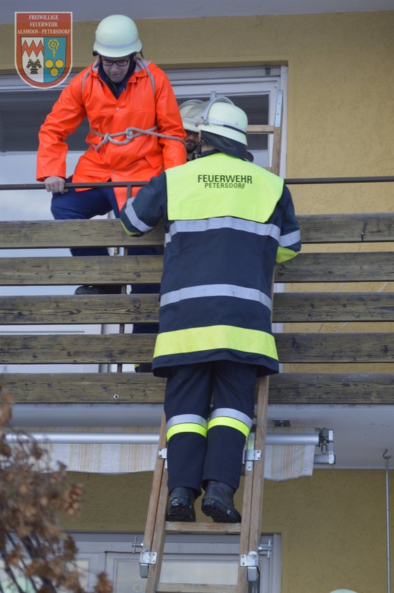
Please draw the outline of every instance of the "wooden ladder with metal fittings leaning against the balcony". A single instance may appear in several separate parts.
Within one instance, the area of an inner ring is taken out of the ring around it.
[[[273,126],[248,126],[248,133],[273,135],[269,170],[279,174],[282,142],[283,93],[278,91]],[[139,569],[147,578],[146,593],[247,593],[248,583],[257,580],[259,572],[259,541],[264,484],[266,419],[268,407],[268,377],[259,380],[256,418],[245,447],[243,504],[241,523],[181,523],[165,520],[167,509],[167,470],[165,467],[166,425],[162,416],[158,458],[153,473],[144,542]],[[239,564],[236,585],[199,585],[160,583],[160,570],[169,533],[239,534]]]

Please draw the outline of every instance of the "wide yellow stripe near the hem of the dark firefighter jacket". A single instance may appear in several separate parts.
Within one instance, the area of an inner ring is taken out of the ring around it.
[[[219,348],[262,354],[278,360],[275,339],[271,333],[232,325],[190,327],[159,333],[153,356],[203,352]]]

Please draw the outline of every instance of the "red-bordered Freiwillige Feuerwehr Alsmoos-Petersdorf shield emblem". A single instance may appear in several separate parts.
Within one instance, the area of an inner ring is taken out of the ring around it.
[[[51,89],[72,66],[73,13],[15,13],[15,68],[31,87]]]

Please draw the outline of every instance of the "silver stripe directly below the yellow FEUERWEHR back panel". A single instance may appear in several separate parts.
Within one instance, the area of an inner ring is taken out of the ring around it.
[[[204,232],[215,229],[233,229],[250,232],[261,237],[273,237],[279,241],[280,228],[272,224],[256,223],[254,220],[222,216],[220,218],[203,218],[202,220],[174,220],[165,235],[165,243],[169,243],[177,232]]]

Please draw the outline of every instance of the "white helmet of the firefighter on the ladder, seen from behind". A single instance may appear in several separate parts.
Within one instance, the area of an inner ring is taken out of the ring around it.
[[[208,101],[197,126],[199,130],[248,144],[248,116],[227,97],[215,97]]]

